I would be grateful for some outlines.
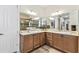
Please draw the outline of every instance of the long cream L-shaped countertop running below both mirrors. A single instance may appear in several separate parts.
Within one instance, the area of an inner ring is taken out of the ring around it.
[[[57,30],[52,30],[52,29],[47,29],[47,30],[34,30],[34,31],[20,31],[21,35],[30,35],[30,34],[36,34],[36,33],[41,33],[41,32],[51,32],[51,33],[58,33],[58,34],[65,34],[65,35],[73,35],[73,36],[79,36],[77,31],[57,31]]]

